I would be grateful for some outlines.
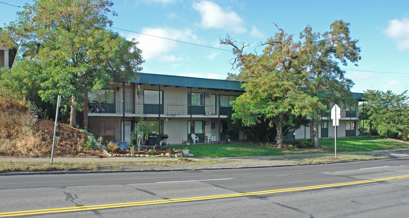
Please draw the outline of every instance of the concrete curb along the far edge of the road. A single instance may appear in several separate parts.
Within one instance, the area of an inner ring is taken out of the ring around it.
[[[400,156],[400,157],[409,157]],[[378,158],[376,160],[383,159],[394,159],[400,157],[388,157],[388,158]],[[373,160],[373,159],[368,159]],[[312,164],[281,164],[281,165],[266,165],[266,166],[232,166],[232,167],[203,167],[203,168],[184,168],[184,169],[133,169],[133,170],[89,170],[89,171],[36,171],[36,172],[10,172],[10,173],[0,173],[0,175],[47,175],[47,174],[74,174],[74,173],[137,173],[137,172],[166,172],[166,171],[191,171],[194,169],[198,170],[220,170],[220,169],[246,169],[246,168],[265,168],[265,167],[280,167],[280,166],[305,166],[305,165],[318,165],[318,164],[336,164],[336,163],[346,163],[346,162],[358,162],[358,161],[368,161],[368,160],[346,160],[339,162],[322,162],[322,163],[312,163]]]

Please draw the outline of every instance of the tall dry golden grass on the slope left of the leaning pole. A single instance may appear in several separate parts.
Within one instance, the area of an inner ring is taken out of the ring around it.
[[[41,157],[46,150],[33,128],[30,103],[0,90],[0,155]]]

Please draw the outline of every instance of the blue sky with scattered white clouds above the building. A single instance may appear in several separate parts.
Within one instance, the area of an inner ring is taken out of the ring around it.
[[[31,3],[27,0],[0,2],[18,6]],[[232,69],[231,47],[219,45],[219,38],[226,34],[238,42],[250,43],[246,52],[261,52],[263,47],[258,45],[277,31],[273,22],[287,33],[299,36],[307,25],[322,34],[330,30],[334,20],[344,20],[350,23],[351,38],[359,40],[357,45],[362,50],[358,66],[353,63],[342,66],[347,69],[346,77],[355,83],[351,91],[392,90],[400,94],[409,89],[407,0],[112,2],[118,16],[109,18],[113,20],[112,27],[119,28],[113,31],[139,42],[138,47],[146,61],[142,65],[141,72],[144,73],[225,79],[227,72],[238,73]],[[1,26],[16,20],[16,12],[20,10],[0,3]]]

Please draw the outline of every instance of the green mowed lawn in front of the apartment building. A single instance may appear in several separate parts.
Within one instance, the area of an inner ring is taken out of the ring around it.
[[[286,155],[299,153],[322,153],[334,152],[334,139],[319,140],[322,148],[319,149],[291,149],[281,150],[271,147],[251,146],[249,144],[199,144],[187,146],[194,157],[242,157],[259,155]],[[183,146],[171,146],[178,149]],[[368,138],[344,138],[337,139],[337,151],[373,151],[394,148],[409,148],[409,143]]]

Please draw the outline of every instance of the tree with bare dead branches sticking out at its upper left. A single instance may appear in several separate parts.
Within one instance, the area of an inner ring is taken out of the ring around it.
[[[277,27],[278,28],[278,27]],[[300,62],[301,43],[294,42],[279,28],[279,32],[267,39],[262,54],[245,54],[249,45],[230,36],[220,39],[220,44],[231,45],[232,65],[239,68],[238,75],[245,93],[232,101],[233,118],[239,118],[245,126],[252,126],[265,119],[270,127],[276,127],[276,145],[283,148],[283,126],[292,124],[295,117],[315,113],[310,108],[323,108],[317,97],[306,93],[308,75]]]

